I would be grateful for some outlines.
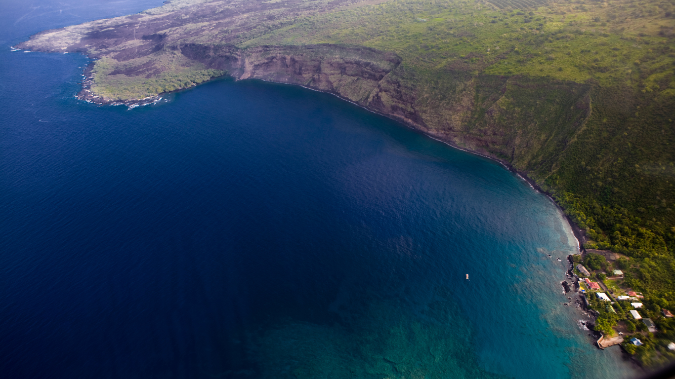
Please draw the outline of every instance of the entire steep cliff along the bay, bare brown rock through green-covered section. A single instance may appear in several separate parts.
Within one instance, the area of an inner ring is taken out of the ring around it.
[[[550,171],[590,113],[588,85],[452,72],[445,82],[430,83],[406,70],[398,55],[365,47],[188,44],[176,49],[237,80],[258,78],[336,94],[528,171]]]

